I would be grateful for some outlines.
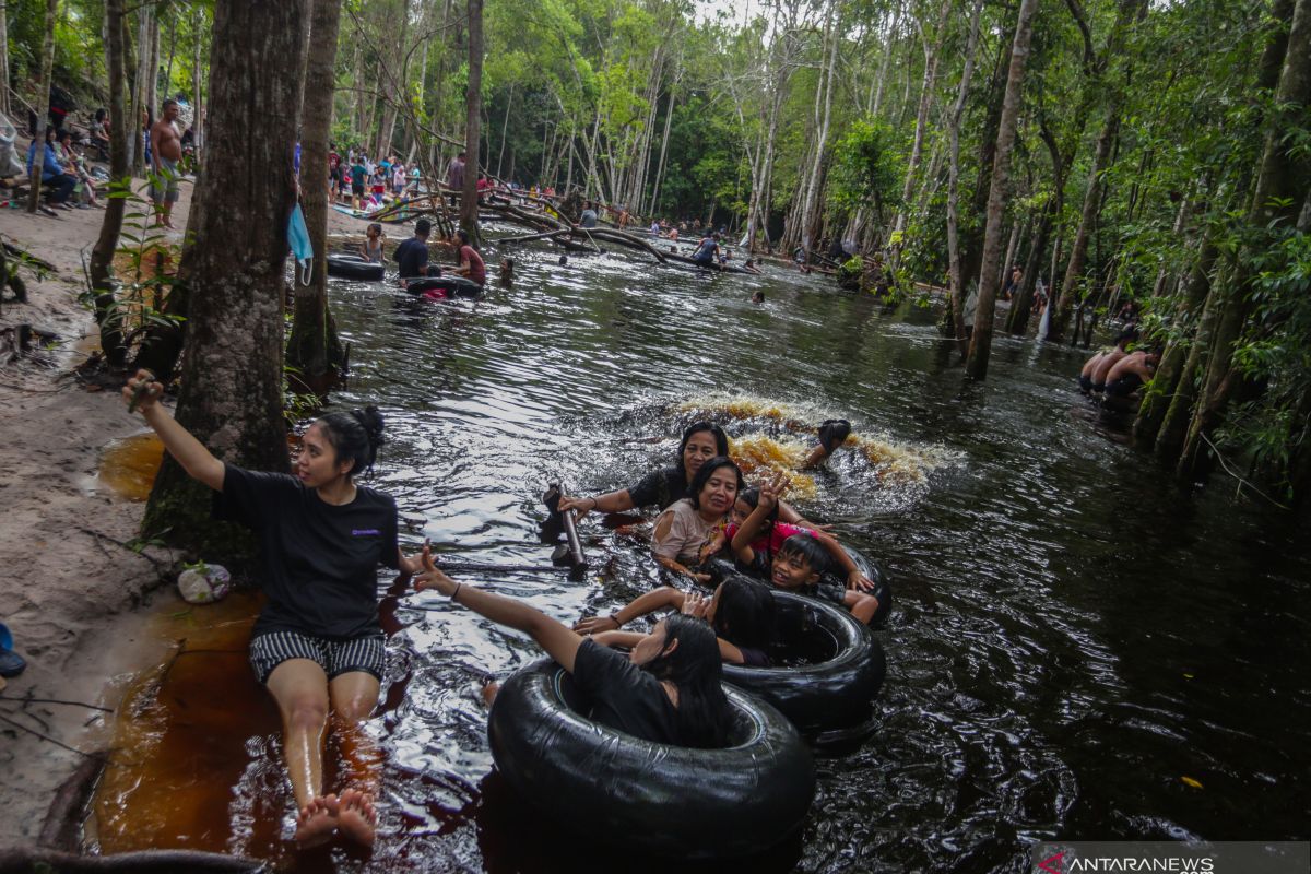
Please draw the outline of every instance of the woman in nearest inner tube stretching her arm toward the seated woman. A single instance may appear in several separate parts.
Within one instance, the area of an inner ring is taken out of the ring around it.
[[[590,718],[653,743],[713,748],[728,740],[732,710],[711,626],[670,616],[636,641],[629,655],[607,649],[519,601],[464,586],[433,562],[425,546],[416,591],[437,590],[498,625],[526,632],[573,675],[593,702]],[[490,698],[496,687],[484,694]]]

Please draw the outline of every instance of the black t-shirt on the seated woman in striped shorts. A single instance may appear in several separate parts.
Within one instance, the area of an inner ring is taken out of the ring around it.
[[[269,603],[254,634],[300,632],[349,639],[382,630],[378,566],[399,566],[396,501],[364,486],[334,506],[286,473],[223,468],[214,515],[260,537]]]

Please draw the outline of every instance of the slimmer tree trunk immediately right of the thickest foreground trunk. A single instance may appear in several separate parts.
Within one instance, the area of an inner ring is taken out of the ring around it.
[[[315,248],[309,284],[295,283],[287,363],[305,388],[320,390],[342,367],[341,341],[328,308],[328,138],[332,131],[341,0],[312,0],[309,51],[300,118],[300,202]]]

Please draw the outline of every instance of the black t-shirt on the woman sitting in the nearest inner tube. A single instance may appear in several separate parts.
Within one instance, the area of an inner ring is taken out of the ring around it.
[[[665,687],[623,653],[585,639],[574,656],[573,679],[595,722],[644,740],[679,743],[678,710]]]

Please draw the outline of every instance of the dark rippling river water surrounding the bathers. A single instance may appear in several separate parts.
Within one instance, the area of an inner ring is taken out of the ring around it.
[[[408,545],[545,563],[548,482],[627,486],[703,414],[758,461],[794,459],[814,440],[802,426],[829,417],[861,438],[794,498],[891,577],[877,731],[818,753],[798,839],[714,870],[1021,871],[1030,843],[1058,837],[1307,837],[1304,532],[1224,478],[1179,490],[1072,390],[1087,352],[999,337],[970,383],[931,311],[889,313],[822,276],[517,258],[514,288],[493,279],[476,304],[332,290],[353,370],[334,405],[383,409],[374,485],[400,502]],[[581,583],[456,577],[566,621],[608,612],[659,574],[600,522],[582,525]],[[371,861],[333,862],[637,865],[540,822],[490,773],[479,684],[535,645],[435,592],[392,607],[383,836]],[[240,833],[228,848],[253,849]]]

